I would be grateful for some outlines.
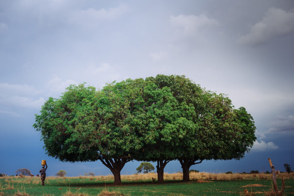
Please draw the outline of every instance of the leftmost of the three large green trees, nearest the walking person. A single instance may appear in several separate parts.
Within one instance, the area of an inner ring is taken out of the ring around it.
[[[121,184],[121,169],[141,148],[130,126],[136,93],[126,83],[108,84],[101,91],[70,85],[59,99],[50,97],[34,124],[46,153],[61,161],[100,160],[113,173],[114,184]]]

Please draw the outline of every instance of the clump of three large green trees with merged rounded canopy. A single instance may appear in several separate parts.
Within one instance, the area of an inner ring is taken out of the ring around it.
[[[44,149],[61,161],[100,160],[121,184],[120,171],[135,159],[157,161],[158,182],[171,160],[183,180],[191,165],[240,159],[256,137],[253,118],[228,97],[177,75],[107,84],[102,90],[70,85],[36,114]]]

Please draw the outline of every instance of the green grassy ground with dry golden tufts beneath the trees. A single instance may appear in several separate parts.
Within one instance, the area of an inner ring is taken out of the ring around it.
[[[294,177],[283,173],[284,195],[294,195]],[[123,185],[114,186],[113,176],[47,177],[41,186],[38,177],[1,177],[0,195],[274,195],[271,174],[191,173],[190,182],[182,174],[164,174],[165,183],[152,183],[156,174],[122,175]]]

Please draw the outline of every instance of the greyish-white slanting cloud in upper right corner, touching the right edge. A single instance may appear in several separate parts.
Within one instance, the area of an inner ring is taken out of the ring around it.
[[[250,32],[241,36],[241,44],[263,43],[273,37],[294,33],[294,13],[282,9],[269,8],[260,22],[250,28]]]

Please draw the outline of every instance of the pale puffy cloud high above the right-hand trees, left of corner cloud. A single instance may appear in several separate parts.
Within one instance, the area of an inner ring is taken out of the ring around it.
[[[219,24],[218,21],[208,18],[204,14],[199,16],[183,14],[170,16],[169,21],[178,33],[183,33],[185,36],[192,36],[204,27],[217,26]]]

